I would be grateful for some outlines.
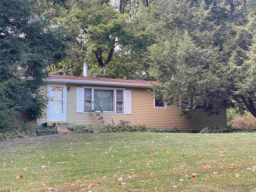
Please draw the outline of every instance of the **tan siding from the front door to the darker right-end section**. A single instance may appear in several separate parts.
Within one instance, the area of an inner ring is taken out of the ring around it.
[[[67,84],[67,122],[77,125],[101,125],[95,113],[76,113],[76,87],[82,85]],[[103,114],[105,124],[118,124],[120,120],[132,122],[133,125],[146,125],[154,128],[177,128],[186,130],[190,128],[188,122],[178,107],[167,109],[154,108],[154,100],[150,92],[142,88],[126,88],[131,90],[132,114]]]

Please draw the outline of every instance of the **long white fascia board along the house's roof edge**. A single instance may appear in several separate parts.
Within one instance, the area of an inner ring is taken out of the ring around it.
[[[71,84],[90,84],[90,85],[115,85],[115,86],[128,86],[128,87],[151,87],[146,83],[124,83],[124,82],[106,82],[106,81],[87,81],[87,80],[72,80],[72,79],[54,79],[46,78],[46,82],[61,82]]]

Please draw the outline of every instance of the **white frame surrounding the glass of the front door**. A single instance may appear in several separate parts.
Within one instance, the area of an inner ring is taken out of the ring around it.
[[[67,103],[66,87],[67,87],[67,85],[66,84],[49,84],[48,83],[47,84],[47,97],[48,97],[48,99],[50,99],[50,88],[51,88],[51,86],[61,86],[61,87],[63,87],[63,120],[50,120],[50,101],[48,101],[48,103],[47,103],[47,122],[66,122],[66,116],[67,116],[67,113],[66,113],[66,103]]]

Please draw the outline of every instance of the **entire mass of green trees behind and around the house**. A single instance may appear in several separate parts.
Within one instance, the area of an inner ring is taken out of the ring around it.
[[[0,11],[2,119],[38,115],[45,73],[80,76],[83,62],[89,76],[157,80],[155,97],[186,115],[239,103],[256,117],[254,0],[2,0]]]

